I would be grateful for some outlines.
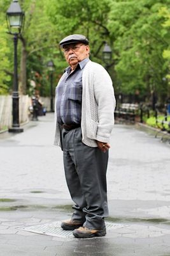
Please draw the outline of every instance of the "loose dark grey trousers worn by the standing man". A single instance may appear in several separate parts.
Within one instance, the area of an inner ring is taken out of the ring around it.
[[[72,219],[84,227],[103,229],[108,216],[106,170],[108,152],[81,142],[81,128],[62,130],[64,170],[74,202]]]

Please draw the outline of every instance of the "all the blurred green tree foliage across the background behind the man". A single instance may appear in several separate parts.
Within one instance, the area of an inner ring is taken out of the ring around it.
[[[54,85],[67,66],[59,49],[62,38],[73,33],[90,40],[90,58],[103,61],[103,42],[113,51],[108,70],[116,93],[139,93],[149,100],[153,92],[164,102],[170,96],[169,0],[20,0],[25,11],[23,38],[18,42],[18,62],[25,47],[27,92],[31,81],[41,95],[50,95],[46,63],[55,63]],[[6,35],[5,13],[11,0],[0,0],[0,93],[11,87],[13,42]],[[3,24],[3,25],[2,25]],[[20,74],[20,65],[18,65]],[[3,88],[3,89],[2,89]]]

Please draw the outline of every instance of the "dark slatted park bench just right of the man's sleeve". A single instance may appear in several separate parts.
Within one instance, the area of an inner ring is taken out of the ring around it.
[[[115,109],[115,117],[124,118],[125,120],[135,120],[139,105],[134,103],[122,103]]]

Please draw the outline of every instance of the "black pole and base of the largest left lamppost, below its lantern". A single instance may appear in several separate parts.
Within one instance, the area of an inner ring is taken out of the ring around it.
[[[13,37],[14,43],[14,72],[13,72],[13,95],[12,95],[12,115],[13,115],[13,124],[9,132],[23,132],[24,129],[20,128],[19,124],[19,96],[18,96],[18,70],[17,70],[17,44],[18,44],[18,35],[14,34]]]

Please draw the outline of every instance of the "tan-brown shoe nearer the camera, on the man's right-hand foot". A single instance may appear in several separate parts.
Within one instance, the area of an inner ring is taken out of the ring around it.
[[[73,235],[77,238],[90,238],[94,236],[105,236],[106,228],[101,230],[91,229],[87,227],[80,227],[73,231]]]

